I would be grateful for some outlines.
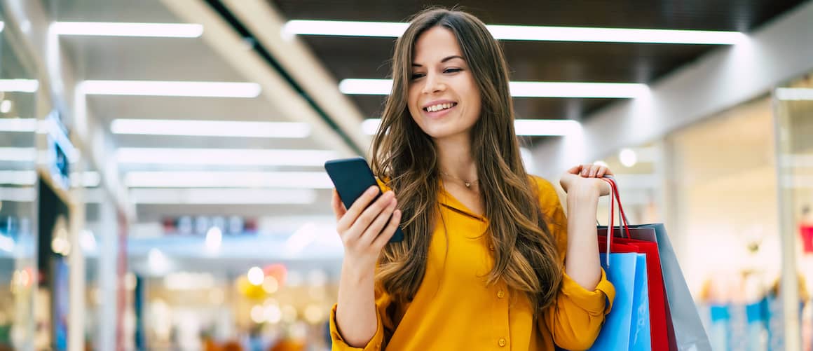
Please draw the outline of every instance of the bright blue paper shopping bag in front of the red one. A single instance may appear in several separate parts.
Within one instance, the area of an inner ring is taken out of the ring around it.
[[[607,280],[615,286],[615,301],[591,350],[650,350],[649,292],[646,254],[601,254]]]

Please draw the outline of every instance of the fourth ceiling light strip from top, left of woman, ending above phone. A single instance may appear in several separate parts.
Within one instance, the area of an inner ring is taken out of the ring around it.
[[[323,166],[330,150],[121,148],[119,163],[217,166]]]

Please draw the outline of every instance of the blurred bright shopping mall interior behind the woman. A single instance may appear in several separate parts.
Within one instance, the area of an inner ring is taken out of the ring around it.
[[[367,155],[408,16],[455,4],[0,1],[0,350],[329,349],[322,165]],[[813,2],[460,4],[528,171],[609,165],[715,350],[813,349]]]

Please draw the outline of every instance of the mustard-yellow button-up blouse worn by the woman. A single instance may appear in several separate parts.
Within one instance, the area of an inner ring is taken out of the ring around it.
[[[559,256],[567,249],[567,219],[553,185],[533,177]],[[533,319],[528,297],[505,282],[485,284],[493,267],[482,235],[488,220],[474,215],[441,190],[441,218],[433,232],[424,280],[410,303],[397,304],[376,291],[378,328],[363,350],[554,350],[589,349],[610,311],[615,288],[602,279],[593,291],[565,274],[554,304]],[[447,251],[448,250],[448,251]],[[400,305],[400,306],[395,306]],[[336,306],[330,316],[334,350],[353,350],[338,332]]]

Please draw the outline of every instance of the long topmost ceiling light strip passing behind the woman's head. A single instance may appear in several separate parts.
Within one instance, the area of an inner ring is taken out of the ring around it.
[[[286,35],[343,37],[400,37],[409,24],[398,22],[356,22],[331,20],[290,20]],[[520,25],[487,26],[498,40],[515,41],[598,41],[660,44],[732,45],[747,41],[741,32],[641,28],[542,27]]]

